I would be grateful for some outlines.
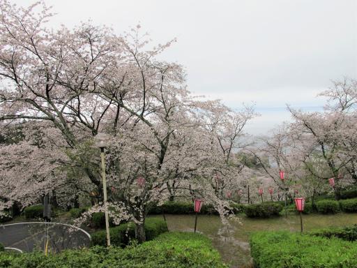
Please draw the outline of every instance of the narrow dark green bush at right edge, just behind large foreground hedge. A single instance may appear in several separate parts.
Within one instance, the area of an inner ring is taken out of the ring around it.
[[[342,228],[337,228],[337,227],[324,228],[321,230],[312,231],[309,234],[317,237],[326,237],[326,238],[337,237],[347,241],[356,241],[357,225],[347,226]]]

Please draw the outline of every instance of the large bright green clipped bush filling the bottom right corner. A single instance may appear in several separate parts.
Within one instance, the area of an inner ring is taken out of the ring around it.
[[[255,265],[260,268],[357,267],[357,246],[342,239],[291,232],[258,232],[250,239]]]

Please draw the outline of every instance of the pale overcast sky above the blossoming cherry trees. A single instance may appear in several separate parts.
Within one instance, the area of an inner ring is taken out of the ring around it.
[[[11,0],[10,0],[11,1]],[[32,1],[12,0],[19,6]],[[162,57],[185,66],[188,88],[232,108],[254,102],[252,134],[289,120],[286,104],[321,110],[331,80],[357,78],[356,0],[45,0],[50,24],[91,19],[118,34],[137,24]]]

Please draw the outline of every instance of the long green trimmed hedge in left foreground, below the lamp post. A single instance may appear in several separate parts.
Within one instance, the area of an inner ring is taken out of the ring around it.
[[[96,246],[45,256],[43,253],[0,255],[4,268],[228,268],[211,240],[202,234],[169,232],[155,241],[125,249]]]

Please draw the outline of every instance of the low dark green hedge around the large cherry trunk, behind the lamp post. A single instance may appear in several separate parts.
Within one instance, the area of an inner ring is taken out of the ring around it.
[[[144,228],[146,241],[152,240],[155,237],[158,237],[159,234],[169,231],[167,229],[167,223],[159,218],[146,218]],[[109,228],[109,232],[110,242],[112,245],[125,247],[130,244],[130,241],[132,239],[135,239],[135,224],[123,223],[114,228]],[[92,246],[107,245],[107,232],[105,230],[93,232],[93,234],[91,234],[91,237]]]

